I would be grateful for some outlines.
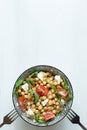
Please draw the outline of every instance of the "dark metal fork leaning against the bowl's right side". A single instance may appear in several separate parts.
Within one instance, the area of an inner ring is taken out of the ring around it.
[[[72,109],[69,111],[68,115],[67,115],[67,118],[73,123],[73,124],[78,124],[81,126],[81,128],[83,130],[87,130],[87,128],[85,128],[85,126],[83,126],[81,123],[80,123],[80,117],[79,115],[77,115]]]

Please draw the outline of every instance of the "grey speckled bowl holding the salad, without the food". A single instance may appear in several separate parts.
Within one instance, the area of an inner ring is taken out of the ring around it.
[[[52,66],[48,66],[48,65],[38,65],[38,66],[34,66],[34,67],[31,67],[29,69],[27,69],[26,71],[24,71],[17,80],[19,79],[23,79],[25,77],[27,77],[28,75],[30,75],[31,73],[33,73],[34,71],[47,71],[47,72],[50,72],[52,73],[53,75],[60,75],[61,77],[64,77],[67,81],[67,84],[68,86],[70,87],[70,91],[73,95],[73,88],[72,88],[72,85],[68,79],[68,77],[62,72],[60,71],[59,69],[55,68],[55,67],[52,67]],[[17,82],[17,81],[16,81]],[[15,82],[15,83],[16,83]],[[17,111],[17,113],[19,114],[19,116],[24,120],[26,121],[28,124],[31,124],[31,125],[34,125],[34,126],[47,126],[46,124],[38,124],[36,122],[33,122],[31,119],[29,119],[25,113],[23,113],[23,111],[20,109],[19,107],[19,104],[18,104],[18,101],[17,101],[17,98],[14,94],[15,92],[15,85],[14,85],[14,88],[13,88],[13,92],[12,92],[12,100],[13,100],[13,104],[14,104],[14,107]],[[54,125],[58,122],[60,122],[61,120],[63,120],[66,115],[68,114],[69,110],[71,109],[71,106],[72,106],[72,103],[73,103],[73,100],[71,100],[69,103],[67,103],[67,105],[65,106],[63,112],[61,114],[59,114],[55,119],[53,119],[52,121],[49,122],[48,126],[51,126],[51,125]]]

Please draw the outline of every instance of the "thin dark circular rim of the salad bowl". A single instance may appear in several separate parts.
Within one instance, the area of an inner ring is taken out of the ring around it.
[[[31,69],[33,69],[33,68],[37,68],[37,67],[38,67],[38,68],[39,68],[39,67],[49,67],[49,68],[51,68],[51,69],[53,68],[53,69],[57,70],[58,72],[60,72],[61,74],[63,74],[63,75],[66,77],[66,79],[68,80],[69,84],[70,84],[70,88],[71,88],[71,90],[72,90],[72,95],[73,95],[73,99],[74,99],[73,87],[72,87],[72,84],[71,84],[69,78],[66,76],[66,74],[65,74],[64,72],[62,72],[60,69],[58,69],[58,68],[56,68],[56,67],[54,67],[54,66],[50,66],[50,65],[36,65],[36,66],[30,67],[30,68],[26,69],[25,71],[23,71],[23,72],[19,75],[19,77],[18,77],[18,78],[16,79],[16,81],[15,81],[15,84],[16,84],[17,80],[20,79],[20,77],[21,77],[24,73],[26,73],[27,71],[29,71],[29,70],[31,70]],[[35,70],[34,70],[34,71],[35,71]],[[13,90],[12,90],[13,106],[14,106],[16,112],[18,113],[19,117],[21,117],[25,122],[27,122],[27,123],[30,124],[30,125],[33,125],[33,126],[36,126],[36,127],[50,127],[50,126],[53,126],[53,125],[59,123],[60,121],[62,121],[62,120],[67,116],[69,110],[70,110],[71,107],[72,107],[73,99],[71,100],[70,107],[68,107],[67,112],[64,114],[64,116],[63,116],[60,120],[54,122],[53,124],[50,124],[50,125],[49,125],[49,124],[48,124],[48,125],[39,125],[39,124],[37,124],[37,123],[32,124],[31,122],[29,122],[29,121],[27,121],[25,118],[23,118],[23,116],[18,112],[18,109],[20,109],[20,107],[17,108],[16,105],[15,105],[15,102],[14,102],[14,99],[13,99],[13,98],[14,98],[15,84],[14,84]],[[20,109],[20,110],[21,110],[21,109]],[[28,117],[26,117],[26,118],[28,118]]]

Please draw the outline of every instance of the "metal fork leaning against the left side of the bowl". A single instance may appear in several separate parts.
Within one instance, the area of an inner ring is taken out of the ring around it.
[[[11,124],[14,120],[16,120],[17,117],[18,117],[18,114],[15,111],[15,109],[13,109],[6,116],[4,116],[3,123],[0,124],[0,127],[2,127],[5,124]]]

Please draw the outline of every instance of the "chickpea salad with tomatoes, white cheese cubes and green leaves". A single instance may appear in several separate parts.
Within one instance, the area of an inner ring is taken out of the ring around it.
[[[17,80],[15,86],[21,110],[37,123],[49,123],[73,99],[66,80],[50,72],[35,71]]]

